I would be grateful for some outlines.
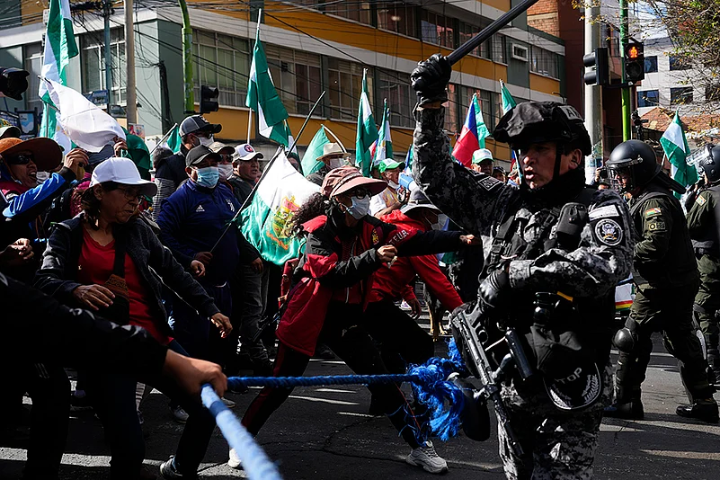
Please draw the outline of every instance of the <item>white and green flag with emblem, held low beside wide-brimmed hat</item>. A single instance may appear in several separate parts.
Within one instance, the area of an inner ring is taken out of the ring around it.
[[[298,173],[284,152],[270,166],[250,205],[240,214],[243,235],[262,258],[284,265],[298,256],[300,241],[289,224],[300,206],[320,187]]]

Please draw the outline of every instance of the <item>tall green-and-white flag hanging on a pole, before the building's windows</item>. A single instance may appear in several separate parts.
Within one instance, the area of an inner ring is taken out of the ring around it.
[[[272,83],[268,60],[260,41],[260,25],[255,34],[253,63],[250,65],[250,81],[247,84],[245,106],[257,112],[258,130],[264,138],[275,140],[289,147],[289,134],[285,126],[288,111],[280,101],[275,85]]]

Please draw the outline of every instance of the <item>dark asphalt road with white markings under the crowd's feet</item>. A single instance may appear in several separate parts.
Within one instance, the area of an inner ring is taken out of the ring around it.
[[[427,325],[426,325],[427,326]],[[600,433],[596,478],[720,478],[720,426],[688,421],[675,415],[685,401],[676,361],[665,352],[660,338],[644,383],[643,422],[607,419]],[[443,354],[443,343],[436,345]],[[340,361],[313,360],[307,375],[351,373]],[[257,390],[228,394],[241,415]],[[720,398],[720,396],[716,396]],[[29,399],[25,399],[27,403]],[[260,432],[257,440],[280,466],[285,479],[341,480],[372,478],[427,479],[431,475],[404,463],[409,448],[387,419],[367,415],[369,392],[364,387],[298,388]],[[173,422],[167,400],[158,392],[142,406],[145,416],[146,464],[157,472],[173,454],[182,425]],[[445,478],[502,479],[496,436],[483,443],[458,437],[435,440],[446,458]],[[109,450],[100,422],[92,413],[80,413],[70,422],[63,479],[109,479]],[[0,445],[0,478],[20,478],[26,450],[22,441]],[[210,443],[201,478],[225,480],[242,474],[227,467],[227,443],[216,432]]]

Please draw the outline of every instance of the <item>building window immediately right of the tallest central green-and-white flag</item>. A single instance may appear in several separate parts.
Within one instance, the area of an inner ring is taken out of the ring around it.
[[[275,45],[264,47],[272,81],[285,109],[307,115],[323,91],[320,56]]]

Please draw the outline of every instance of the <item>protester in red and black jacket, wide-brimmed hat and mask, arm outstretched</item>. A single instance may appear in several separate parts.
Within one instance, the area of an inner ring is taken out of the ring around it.
[[[324,178],[321,193],[298,210],[294,223],[307,233],[306,252],[296,271],[297,284],[289,292],[278,326],[280,348],[273,375],[302,375],[320,339],[361,375],[387,374],[388,370],[363,326],[372,289],[373,273],[396,255],[453,251],[472,244],[472,236],[458,232],[420,232],[383,223],[368,215],[372,195],[386,188],[383,181],[363,177],[351,166],[333,169]],[[371,386],[385,412],[413,448],[411,465],[431,473],[448,469],[430,442],[421,444],[420,425],[396,385]],[[290,388],[265,387],[243,417],[256,435],[264,422],[290,395]],[[410,427],[410,428],[408,428]],[[229,463],[239,465],[230,452]]]

